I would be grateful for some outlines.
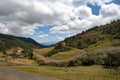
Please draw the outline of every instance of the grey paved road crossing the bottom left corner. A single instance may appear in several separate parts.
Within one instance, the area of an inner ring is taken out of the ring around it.
[[[0,68],[0,76],[4,77],[4,80],[53,80],[51,78],[37,76],[30,73],[18,72],[5,68]]]

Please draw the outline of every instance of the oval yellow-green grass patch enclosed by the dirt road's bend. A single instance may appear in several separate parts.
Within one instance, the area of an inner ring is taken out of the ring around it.
[[[77,54],[80,54],[79,49],[72,48],[69,51],[64,51],[64,52],[58,52],[54,55],[52,55],[50,58],[55,59],[55,60],[62,60],[62,59],[68,59],[71,58]]]

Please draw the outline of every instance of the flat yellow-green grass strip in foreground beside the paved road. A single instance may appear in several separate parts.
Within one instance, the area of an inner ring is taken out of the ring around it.
[[[5,68],[5,67],[4,67]],[[109,69],[102,66],[11,66],[6,67],[18,71],[29,72],[37,75],[52,77],[55,80],[119,80],[120,76],[110,75]]]

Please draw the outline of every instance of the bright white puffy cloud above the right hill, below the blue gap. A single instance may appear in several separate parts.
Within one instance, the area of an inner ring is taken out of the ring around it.
[[[92,1],[92,0],[91,0]],[[98,0],[99,1],[99,0]],[[105,25],[111,21],[120,19],[120,5],[110,3],[111,0],[104,1],[99,10],[99,15],[92,14],[91,8],[81,5],[74,10],[74,20],[68,21],[66,25],[53,27],[51,33],[82,32],[89,28]],[[62,30],[64,29],[64,30]]]

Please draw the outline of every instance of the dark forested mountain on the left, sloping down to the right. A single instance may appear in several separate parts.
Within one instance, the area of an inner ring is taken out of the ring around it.
[[[31,38],[17,37],[12,35],[0,34],[0,51],[14,47],[21,48],[42,48],[44,45],[39,44]]]

